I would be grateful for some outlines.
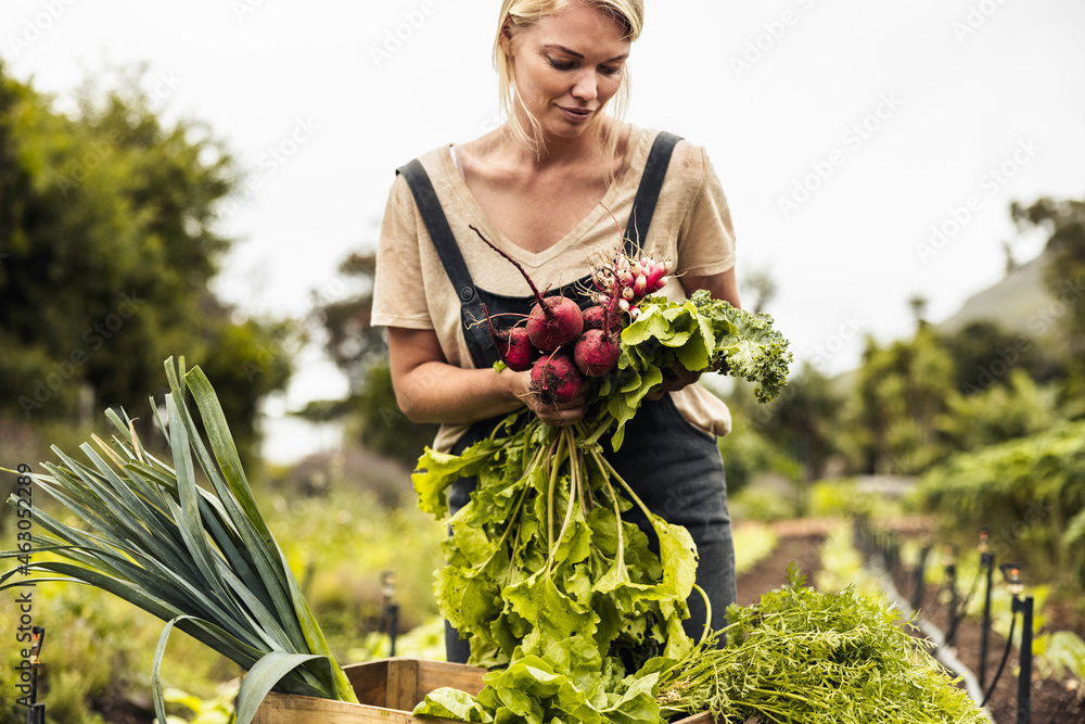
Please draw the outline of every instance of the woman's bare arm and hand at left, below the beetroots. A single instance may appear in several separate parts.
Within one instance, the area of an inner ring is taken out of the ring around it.
[[[544,422],[562,424],[586,411],[583,396],[541,405],[531,391],[529,372],[449,365],[433,330],[390,327],[388,358],[396,402],[413,422],[475,422],[526,405]]]

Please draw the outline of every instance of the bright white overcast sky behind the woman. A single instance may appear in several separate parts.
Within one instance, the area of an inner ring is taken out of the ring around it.
[[[1085,198],[1080,0],[647,7],[628,119],[709,150],[740,281],[771,275],[769,312],[826,371],[853,367],[863,334],[910,333],[912,295],[937,321],[997,281],[1012,200]],[[166,116],[209,123],[259,181],[225,221],[242,242],[217,290],[246,312],[299,316],[339,291],[343,257],[373,244],[396,166],[495,124],[498,8],[0,0],[0,58],[62,100],[146,63]],[[794,195],[803,183],[813,190]],[[932,225],[952,236],[924,255]],[[1022,261],[1038,251],[1018,246]],[[292,405],[342,390],[307,359]]]

